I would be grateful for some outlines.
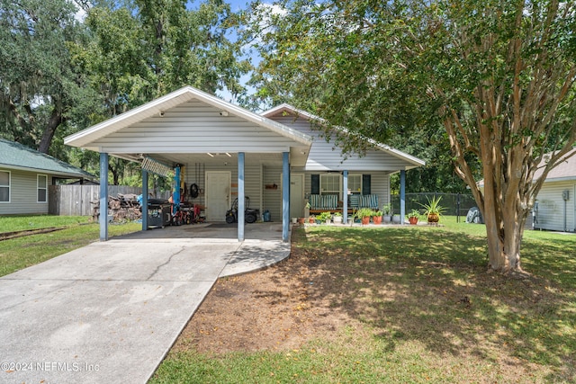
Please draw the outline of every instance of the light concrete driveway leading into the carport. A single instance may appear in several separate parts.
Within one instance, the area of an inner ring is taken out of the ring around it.
[[[0,382],[145,383],[221,276],[290,254],[280,224],[112,237],[0,278]]]

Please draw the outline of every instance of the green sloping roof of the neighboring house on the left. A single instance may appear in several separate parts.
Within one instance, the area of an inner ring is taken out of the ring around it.
[[[94,178],[76,166],[38,152],[14,141],[0,138],[0,167],[31,172],[45,172],[63,177]]]

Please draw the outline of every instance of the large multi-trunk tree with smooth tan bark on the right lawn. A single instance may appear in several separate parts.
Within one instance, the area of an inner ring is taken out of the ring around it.
[[[379,140],[399,127],[441,124],[455,173],[486,222],[489,267],[522,272],[527,214],[546,175],[576,141],[576,4],[301,0],[284,6],[282,17],[255,8],[251,31],[262,38],[263,94],[283,82],[284,97],[302,108]],[[480,162],[483,190],[471,159]],[[543,174],[535,180],[539,164]]]

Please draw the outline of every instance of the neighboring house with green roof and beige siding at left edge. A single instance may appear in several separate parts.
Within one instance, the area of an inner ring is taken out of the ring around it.
[[[49,185],[94,178],[76,166],[0,138],[0,215],[47,214]]]

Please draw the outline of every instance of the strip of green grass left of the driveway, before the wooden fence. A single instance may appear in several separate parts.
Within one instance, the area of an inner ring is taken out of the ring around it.
[[[55,232],[0,241],[0,276],[44,262],[81,246],[87,246],[100,237],[98,223],[89,223],[86,217],[24,216],[0,218],[2,232],[67,226]],[[124,235],[142,228],[139,223],[111,225],[110,237]]]

